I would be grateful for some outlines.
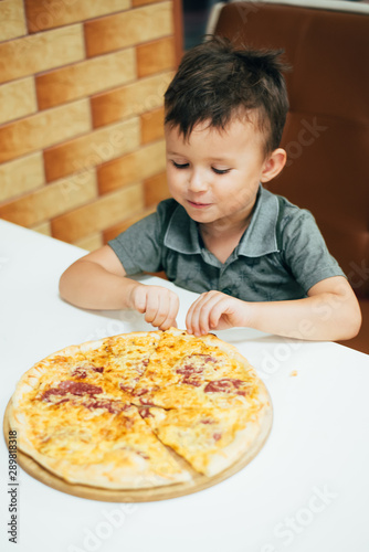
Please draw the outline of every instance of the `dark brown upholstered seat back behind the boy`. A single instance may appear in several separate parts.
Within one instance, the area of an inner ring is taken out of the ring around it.
[[[344,344],[369,353],[369,14],[233,2],[214,33],[285,51],[289,160],[270,189],[315,215],[362,306]]]

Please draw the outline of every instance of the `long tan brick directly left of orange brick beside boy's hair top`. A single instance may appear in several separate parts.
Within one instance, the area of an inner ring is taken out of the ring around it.
[[[35,78],[40,109],[89,96],[136,78],[134,49],[52,71]]]

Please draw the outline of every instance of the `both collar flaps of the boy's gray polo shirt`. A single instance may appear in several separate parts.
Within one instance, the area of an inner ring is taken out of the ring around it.
[[[236,247],[238,255],[261,257],[278,251],[276,241],[278,211],[277,197],[260,184],[250,225]],[[198,225],[182,205],[177,205],[169,220],[164,244],[178,253],[201,254]]]

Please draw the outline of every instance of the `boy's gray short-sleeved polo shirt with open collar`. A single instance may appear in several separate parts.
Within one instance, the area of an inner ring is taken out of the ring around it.
[[[127,275],[165,270],[191,291],[218,289],[249,301],[298,299],[321,279],[345,276],[312,213],[262,185],[250,225],[224,264],[172,199],[108,244]]]

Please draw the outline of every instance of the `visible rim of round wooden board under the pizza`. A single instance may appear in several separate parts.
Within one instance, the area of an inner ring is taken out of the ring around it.
[[[4,418],[3,418],[3,434],[9,445],[9,432],[11,431],[9,423],[9,410],[11,405],[11,400],[8,403]],[[271,411],[272,412],[272,411]],[[224,469],[220,474],[212,477],[207,477],[192,470],[192,481],[186,481],[162,487],[152,487],[147,489],[119,489],[110,490],[103,489],[99,487],[89,487],[87,485],[70,484],[64,479],[55,476],[39,463],[33,460],[27,454],[23,454],[18,449],[17,452],[17,463],[21,466],[24,471],[30,476],[34,477],[39,481],[52,487],[53,489],[66,492],[67,495],[74,495],[80,498],[88,498],[91,500],[101,500],[104,502],[151,502],[156,500],[167,500],[169,498],[182,497],[184,495],[191,495],[192,492],[198,492],[199,490],[212,487],[224,479],[233,476],[242,468],[244,468],[263,448],[272,428],[273,414],[270,416],[268,427],[264,434],[264,438],[257,442],[254,448],[249,449],[240,458],[232,464],[229,468]]]

